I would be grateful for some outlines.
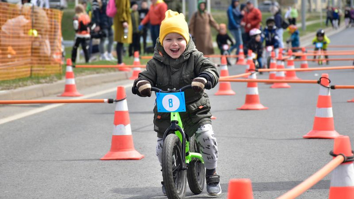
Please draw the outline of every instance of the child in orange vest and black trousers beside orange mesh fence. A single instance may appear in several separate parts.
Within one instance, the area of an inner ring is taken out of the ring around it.
[[[74,16],[73,26],[76,33],[75,33],[75,44],[71,52],[71,60],[72,63],[74,64],[76,61],[77,48],[81,44],[81,47],[85,54],[85,61],[86,63],[88,63],[89,51],[87,49],[86,41],[90,38],[89,24],[91,20],[89,19],[89,15],[86,14],[84,6],[81,4],[78,4],[75,7],[75,13],[76,14]]]

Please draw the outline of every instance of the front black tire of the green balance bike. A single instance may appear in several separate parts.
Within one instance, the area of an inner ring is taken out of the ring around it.
[[[179,138],[175,134],[170,134],[165,138],[163,149],[162,149],[162,177],[163,182],[166,189],[166,194],[169,199],[184,199],[185,192],[186,192],[186,183],[187,183],[187,176],[186,170],[177,171],[180,176],[176,180],[180,180],[181,183],[180,190],[176,190],[175,180],[173,176],[173,164],[174,164],[174,149],[180,151],[182,150],[182,144],[179,141]],[[180,157],[180,153],[175,153],[177,156],[176,159],[181,164],[182,157]],[[179,179],[180,178],[180,179]]]

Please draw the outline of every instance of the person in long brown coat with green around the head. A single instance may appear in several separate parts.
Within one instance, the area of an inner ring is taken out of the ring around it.
[[[219,25],[206,11],[206,1],[198,1],[198,11],[195,12],[189,21],[189,33],[198,49],[204,55],[214,54],[212,46],[210,26],[219,31]]]

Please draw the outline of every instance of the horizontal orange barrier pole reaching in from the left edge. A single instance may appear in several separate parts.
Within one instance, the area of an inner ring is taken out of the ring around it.
[[[68,100],[0,100],[0,104],[72,104],[72,103],[109,103],[113,99],[68,99]]]

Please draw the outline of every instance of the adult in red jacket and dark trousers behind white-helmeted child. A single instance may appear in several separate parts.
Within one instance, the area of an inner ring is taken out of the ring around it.
[[[245,40],[243,40],[244,51],[247,52],[247,44],[251,39],[249,32],[253,28],[261,28],[262,13],[258,8],[255,8],[253,3],[249,0],[246,2],[247,12],[245,12],[241,26],[245,29]]]

